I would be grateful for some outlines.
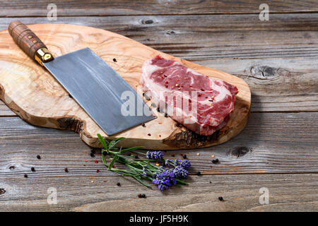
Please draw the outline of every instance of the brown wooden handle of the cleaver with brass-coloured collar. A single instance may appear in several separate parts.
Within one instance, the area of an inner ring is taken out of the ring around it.
[[[42,62],[53,59],[45,44],[24,23],[18,20],[11,22],[8,26],[8,32],[23,52],[38,61],[41,65]]]

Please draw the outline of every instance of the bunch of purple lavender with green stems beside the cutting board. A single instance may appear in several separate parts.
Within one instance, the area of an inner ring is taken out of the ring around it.
[[[132,147],[132,148],[115,148],[115,145],[119,143],[124,138],[117,138],[114,141],[108,142],[100,134],[98,134],[98,139],[103,145],[102,149],[102,162],[112,172],[117,172],[124,176],[133,177],[136,181],[140,182],[144,186],[150,187],[144,181],[151,181],[153,184],[158,186],[160,191],[165,191],[176,184],[187,184],[183,179],[187,179],[189,172],[187,169],[191,167],[189,160],[165,160],[162,151],[148,151],[147,153],[139,153],[136,150],[143,149],[144,147]],[[139,155],[145,155],[146,159],[134,159],[127,157],[127,155],[122,155],[123,153],[137,153]],[[108,165],[105,155],[111,155],[111,162]],[[128,169],[117,169],[114,167],[114,163],[119,162]],[[156,162],[153,165],[152,162]],[[165,165],[160,166],[158,162]],[[172,168],[169,168],[172,167]]]

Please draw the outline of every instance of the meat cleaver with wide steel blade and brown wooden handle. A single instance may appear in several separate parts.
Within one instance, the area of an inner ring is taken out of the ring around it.
[[[142,97],[91,49],[54,58],[20,21],[10,23],[8,32],[25,54],[52,73],[107,136],[156,118]]]

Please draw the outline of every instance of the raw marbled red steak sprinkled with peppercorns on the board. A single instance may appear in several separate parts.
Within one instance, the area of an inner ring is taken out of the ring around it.
[[[201,135],[223,128],[234,109],[234,85],[157,56],[143,64],[140,84],[172,119]]]

